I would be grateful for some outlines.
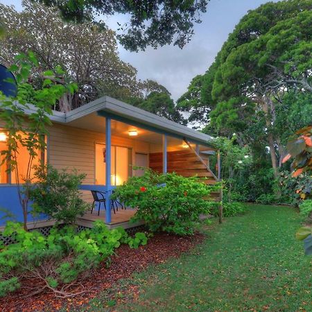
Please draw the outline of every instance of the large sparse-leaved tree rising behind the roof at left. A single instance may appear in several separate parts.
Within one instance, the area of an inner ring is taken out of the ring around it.
[[[136,70],[119,59],[114,32],[92,23],[65,23],[56,8],[23,1],[24,10],[0,3],[6,36],[1,42],[0,62],[10,65],[18,53],[35,53],[32,85],[40,85],[42,71],[62,67],[66,79],[76,83],[74,94],[64,94],[58,105],[63,112],[109,95],[121,100],[138,95]],[[64,77],[63,77],[64,78]]]

